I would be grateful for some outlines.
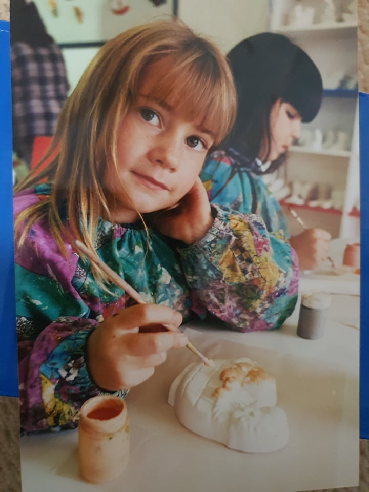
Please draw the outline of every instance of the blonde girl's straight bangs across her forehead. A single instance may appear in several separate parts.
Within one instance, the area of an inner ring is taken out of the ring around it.
[[[208,131],[215,145],[230,132],[236,98],[232,81],[220,72],[214,58],[173,60],[170,71],[158,73],[156,80],[150,96]]]

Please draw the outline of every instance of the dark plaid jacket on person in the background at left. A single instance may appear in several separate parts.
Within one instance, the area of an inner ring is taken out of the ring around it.
[[[35,136],[51,136],[69,84],[56,44],[11,45],[13,150],[23,155]]]

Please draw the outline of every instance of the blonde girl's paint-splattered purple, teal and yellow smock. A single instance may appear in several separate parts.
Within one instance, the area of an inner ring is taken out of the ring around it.
[[[18,193],[15,216],[50,193],[51,186],[46,184]],[[193,312],[209,312],[234,330],[278,328],[295,307],[296,258],[288,244],[280,241],[280,261],[276,261],[277,243],[271,245],[260,217],[212,208],[213,226],[189,246],[151,229],[148,242],[139,223],[100,219],[97,254],[146,301],[171,306],[185,320]],[[101,289],[89,261],[79,258],[67,243],[66,248],[64,257],[47,220],[35,222],[23,247],[15,247],[23,432],[73,428],[84,401],[109,393],[90,379],[86,340],[101,316],[133,303],[115,285],[109,285],[115,295]],[[116,394],[124,397],[126,392]]]

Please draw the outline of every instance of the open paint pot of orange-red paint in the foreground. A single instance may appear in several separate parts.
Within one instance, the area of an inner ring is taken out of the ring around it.
[[[88,482],[119,477],[129,460],[129,419],[125,402],[95,396],[81,407],[78,423],[79,473]]]

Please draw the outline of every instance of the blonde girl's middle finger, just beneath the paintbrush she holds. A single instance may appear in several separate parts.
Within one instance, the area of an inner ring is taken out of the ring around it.
[[[127,354],[147,357],[167,352],[172,347],[184,347],[188,338],[180,332],[128,333],[122,337],[122,343]]]

